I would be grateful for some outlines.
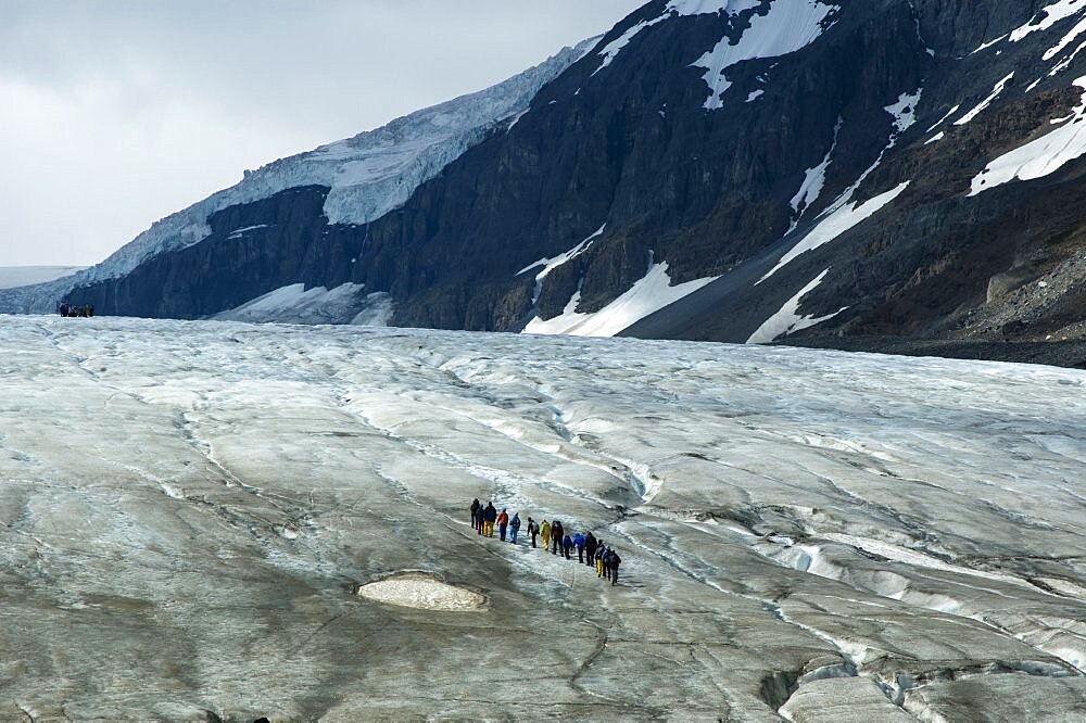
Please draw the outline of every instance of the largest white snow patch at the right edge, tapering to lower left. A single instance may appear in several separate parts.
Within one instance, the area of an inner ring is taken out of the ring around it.
[[[1086,90],[1086,76],[1074,81]],[[988,163],[973,178],[970,195],[1012,180],[1033,180],[1056,173],[1065,164],[1086,154],[1086,92],[1083,93],[1073,118],[1056,130],[1005,153]]]

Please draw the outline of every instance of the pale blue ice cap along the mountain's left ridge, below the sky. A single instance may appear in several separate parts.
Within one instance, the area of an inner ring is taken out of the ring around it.
[[[540,88],[583,58],[590,38],[485,90],[392,120],[375,130],[247,170],[237,185],[172,214],[101,264],[27,294],[48,302],[66,289],[126,275],[161,253],[198,243],[211,233],[207,217],[239,203],[300,186],[328,186],[326,214],[333,224],[365,224],[395,208],[425,181],[481,141],[498,122],[526,111]],[[48,303],[37,303],[43,310]]]

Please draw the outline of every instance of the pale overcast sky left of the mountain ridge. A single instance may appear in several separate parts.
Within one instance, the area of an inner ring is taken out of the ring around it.
[[[90,265],[242,170],[491,86],[645,0],[0,0],[0,266]]]

